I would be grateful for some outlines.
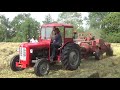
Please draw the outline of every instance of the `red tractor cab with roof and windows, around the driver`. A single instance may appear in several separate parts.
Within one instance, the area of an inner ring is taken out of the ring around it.
[[[54,28],[59,28],[60,34],[62,36],[62,46],[56,51],[56,58],[60,62],[60,53],[61,49],[67,44],[67,43],[73,43],[73,37],[74,37],[74,28],[71,24],[60,24],[60,23],[50,23],[50,24],[44,24],[41,26],[40,29],[40,38],[39,42],[43,40],[50,40],[51,43],[51,37],[53,36],[53,30]],[[49,57],[48,60],[50,61],[51,56],[51,45],[49,47]]]

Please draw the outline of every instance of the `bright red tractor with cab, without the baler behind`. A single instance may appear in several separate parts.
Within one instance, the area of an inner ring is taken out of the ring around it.
[[[62,63],[67,70],[76,70],[80,65],[81,51],[74,42],[73,26],[69,24],[51,23],[41,26],[39,41],[24,42],[19,47],[19,55],[13,57],[10,67],[13,71],[24,70],[34,66],[37,76],[49,73],[51,56],[51,36],[54,28],[59,28],[62,35],[62,46],[56,51],[54,62]]]

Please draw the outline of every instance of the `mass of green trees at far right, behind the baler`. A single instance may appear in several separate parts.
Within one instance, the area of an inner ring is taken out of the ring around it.
[[[89,12],[88,31],[111,43],[120,43],[120,12]]]

